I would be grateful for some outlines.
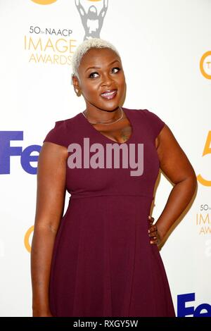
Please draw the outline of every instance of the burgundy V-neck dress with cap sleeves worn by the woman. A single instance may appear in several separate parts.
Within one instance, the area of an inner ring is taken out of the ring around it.
[[[66,190],[71,195],[53,249],[49,287],[53,316],[175,316],[158,246],[150,244],[148,236],[160,168],[155,137],[165,123],[147,109],[122,109],[132,125],[124,144],[128,151],[129,144],[136,146],[136,161],[137,145],[143,144],[142,175],[131,175],[134,168],[122,166],[121,151],[120,165],[106,167],[106,145],[119,148],[121,143],[98,132],[82,113],[58,120],[44,139],[67,149],[79,144],[82,151],[81,168],[79,163],[77,168],[68,162],[66,166]],[[89,138],[90,152],[84,138]],[[84,165],[99,144],[104,168]],[[69,156],[75,151],[69,149]]]

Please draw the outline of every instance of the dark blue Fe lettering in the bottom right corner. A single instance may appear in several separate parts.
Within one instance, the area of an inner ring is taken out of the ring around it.
[[[186,303],[195,301],[195,293],[179,294],[177,296],[177,317],[193,316],[193,317],[211,317],[210,304],[200,304],[193,306],[193,304]]]

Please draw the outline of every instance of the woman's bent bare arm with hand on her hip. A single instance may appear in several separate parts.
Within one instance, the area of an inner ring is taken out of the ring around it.
[[[174,184],[165,208],[155,223],[162,241],[170,227],[191,201],[193,194],[196,192],[197,180],[191,163],[167,125],[161,130],[158,139],[156,139],[156,144],[160,169]],[[152,230],[151,237],[156,236],[156,232]]]

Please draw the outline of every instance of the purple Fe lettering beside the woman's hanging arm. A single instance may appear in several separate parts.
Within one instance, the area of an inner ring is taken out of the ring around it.
[[[20,146],[11,146],[12,140],[23,140],[23,131],[0,131],[0,175],[11,173],[11,157],[20,156],[20,164],[26,173],[35,175],[37,167],[34,168],[30,162],[38,161],[41,146],[30,145],[23,149]],[[31,155],[37,152],[38,155]]]

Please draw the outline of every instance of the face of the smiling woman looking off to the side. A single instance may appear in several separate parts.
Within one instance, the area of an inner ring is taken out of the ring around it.
[[[113,111],[122,104],[126,89],[121,59],[112,49],[89,49],[78,68],[79,81],[87,109]]]

